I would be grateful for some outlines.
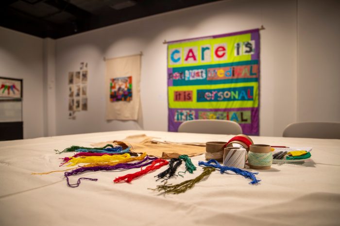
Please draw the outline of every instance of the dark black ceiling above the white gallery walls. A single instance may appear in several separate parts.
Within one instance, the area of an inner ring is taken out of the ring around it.
[[[0,26],[60,38],[218,0],[0,0]]]

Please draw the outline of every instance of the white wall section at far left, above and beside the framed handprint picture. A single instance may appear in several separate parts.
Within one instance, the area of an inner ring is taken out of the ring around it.
[[[43,41],[0,27],[0,77],[23,79],[24,138],[43,129]]]

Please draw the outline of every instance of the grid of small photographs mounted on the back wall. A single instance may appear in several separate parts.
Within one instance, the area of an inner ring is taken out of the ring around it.
[[[68,111],[69,116],[74,112],[87,111],[87,68],[68,72]]]

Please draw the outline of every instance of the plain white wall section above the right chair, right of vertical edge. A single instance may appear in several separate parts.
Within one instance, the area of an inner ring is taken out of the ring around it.
[[[298,121],[340,121],[340,1],[298,2]]]

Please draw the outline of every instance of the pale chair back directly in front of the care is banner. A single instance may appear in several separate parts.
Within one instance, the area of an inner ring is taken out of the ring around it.
[[[183,122],[178,132],[211,133],[211,134],[242,134],[237,122],[218,119],[196,119]]]

